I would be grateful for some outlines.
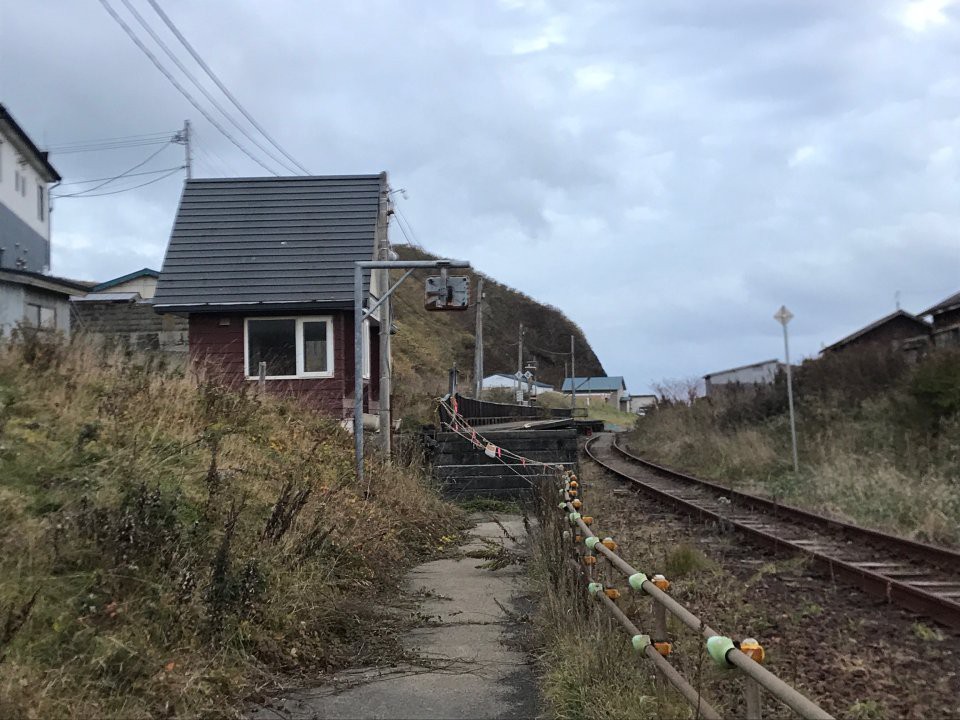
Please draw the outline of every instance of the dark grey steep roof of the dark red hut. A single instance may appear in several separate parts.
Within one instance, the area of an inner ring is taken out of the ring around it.
[[[188,180],[154,308],[352,308],[385,185],[385,173]]]

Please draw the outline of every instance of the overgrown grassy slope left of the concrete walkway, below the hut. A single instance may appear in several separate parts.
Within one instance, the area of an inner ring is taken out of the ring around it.
[[[235,716],[399,658],[405,568],[460,513],[293,402],[157,358],[0,345],[0,717]]]

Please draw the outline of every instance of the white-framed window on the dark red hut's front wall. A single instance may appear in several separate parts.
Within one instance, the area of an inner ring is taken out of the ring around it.
[[[333,377],[333,320],[329,316],[246,318],[243,356],[247,378]]]

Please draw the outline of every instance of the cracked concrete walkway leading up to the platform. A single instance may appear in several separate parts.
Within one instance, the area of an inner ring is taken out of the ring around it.
[[[506,531],[526,541],[517,516],[498,515]],[[466,553],[485,547],[483,538],[503,542],[503,529],[477,515]],[[255,720],[283,718],[532,718],[537,690],[527,655],[518,647],[516,617],[526,612],[520,597],[524,569],[495,572],[482,560],[462,557],[428,562],[407,576],[407,589],[424,596],[420,613],[439,618],[435,626],[408,633],[403,645],[422,665],[369,668],[341,673],[330,685],[289,693],[252,714]],[[341,689],[346,687],[346,689]]]

